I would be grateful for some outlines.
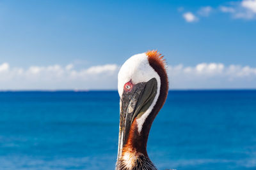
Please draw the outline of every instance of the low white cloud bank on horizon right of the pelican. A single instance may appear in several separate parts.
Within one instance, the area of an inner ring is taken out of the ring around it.
[[[256,67],[200,63],[168,66],[171,89],[255,89]]]

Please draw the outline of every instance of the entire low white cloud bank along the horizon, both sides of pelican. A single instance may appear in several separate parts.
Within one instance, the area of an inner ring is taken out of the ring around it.
[[[73,64],[60,66],[11,67],[0,64],[0,90],[63,90],[117,88],[120,66],[105,64],[76,69]],[[255,89],[256,67],[221,63],[196,66],[168,66],[170,89]]]

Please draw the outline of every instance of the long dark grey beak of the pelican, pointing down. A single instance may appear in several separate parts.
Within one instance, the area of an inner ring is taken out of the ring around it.
[[[157,93],[156,78],[133,86],[129,92],[123,92],[120,98],[120,126],[118,139],[118,156],[122,156],[122,149],[127,143],[129,131],[134,118],[140,118],[154,101]]]

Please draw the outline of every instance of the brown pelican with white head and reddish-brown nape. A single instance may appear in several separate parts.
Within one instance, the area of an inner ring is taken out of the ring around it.
[[[168,95],[166,62],[157,50],[127,59],[118,72],[120,124],[116,170],[157,169],[147,154],[150,127]]]

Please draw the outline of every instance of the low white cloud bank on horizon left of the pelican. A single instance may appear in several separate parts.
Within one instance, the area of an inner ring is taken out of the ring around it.
[[[60,66],[10,67],[0,64],[0,90],[29,89],[115,89],[116,64],[75,69],[73,64]]]

